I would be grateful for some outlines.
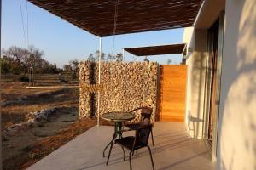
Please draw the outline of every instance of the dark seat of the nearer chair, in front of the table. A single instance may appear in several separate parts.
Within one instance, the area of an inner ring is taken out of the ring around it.
[[[120,144],[122,146],[124,146],[126,149],[128,150],[132,150],[132,146],[134,144],[134,140],[135,137],[134,136],[127,136],[125,138],[121,138],[121,139],[116,139],[115,143],[116,144]],[[137,143],[135,144],[136,147],[134,148],[135,150],[139,149],[139,148],[143,148],[144,146],[146,146],[147,144],[143,144],[143,143]]]

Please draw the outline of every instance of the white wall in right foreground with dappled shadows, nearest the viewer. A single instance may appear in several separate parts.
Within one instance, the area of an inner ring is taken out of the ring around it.
[[[227,0],[218,169],[256,169],[256,1]]]

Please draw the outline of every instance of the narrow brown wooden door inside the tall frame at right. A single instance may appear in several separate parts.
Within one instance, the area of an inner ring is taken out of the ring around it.
[[[211,80],[211,98],[209,110],[208,141],[212,144],[213,126],[216,122],[216,94],[217,94],[217,64],[218,64],[218,22],[210,29],[212,37],[212,80]]]

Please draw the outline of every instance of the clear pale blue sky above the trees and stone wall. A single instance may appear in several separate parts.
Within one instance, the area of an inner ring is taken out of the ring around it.
[[[86,59],[99,48],[99,37],[90,34],[65,20],[50,14],[42,8],[27,3],[28,25],[26,15],[26,0],[2,0],[2,48],[16,45],[27,47],[27,37],[30,45],[44,51],[44,59],[62,67],[71,59]],[[25,37],[23,33],[20,4],[24,20]],[[28,31],[28,34],[27,34]],[[27,36],[28,35],[28,36]],[[149,31],[144,33],[125,34],[115,37],[114,54],[122,53],[121,48],[162,45],[182,42],[183,29],[166,31]],[[112,53],[113,37],[102,37],[102,51]],[[143,60],[125,53],[125,60]],[[181,61],[181,55],[149,56],[150,61],[166,64],[167,59],[173,63]]]

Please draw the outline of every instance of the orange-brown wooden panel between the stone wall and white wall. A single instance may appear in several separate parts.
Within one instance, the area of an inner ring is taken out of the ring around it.
[[[186,65],[161,65],[158,99],[161,122],[184,121],[186,78]]]

